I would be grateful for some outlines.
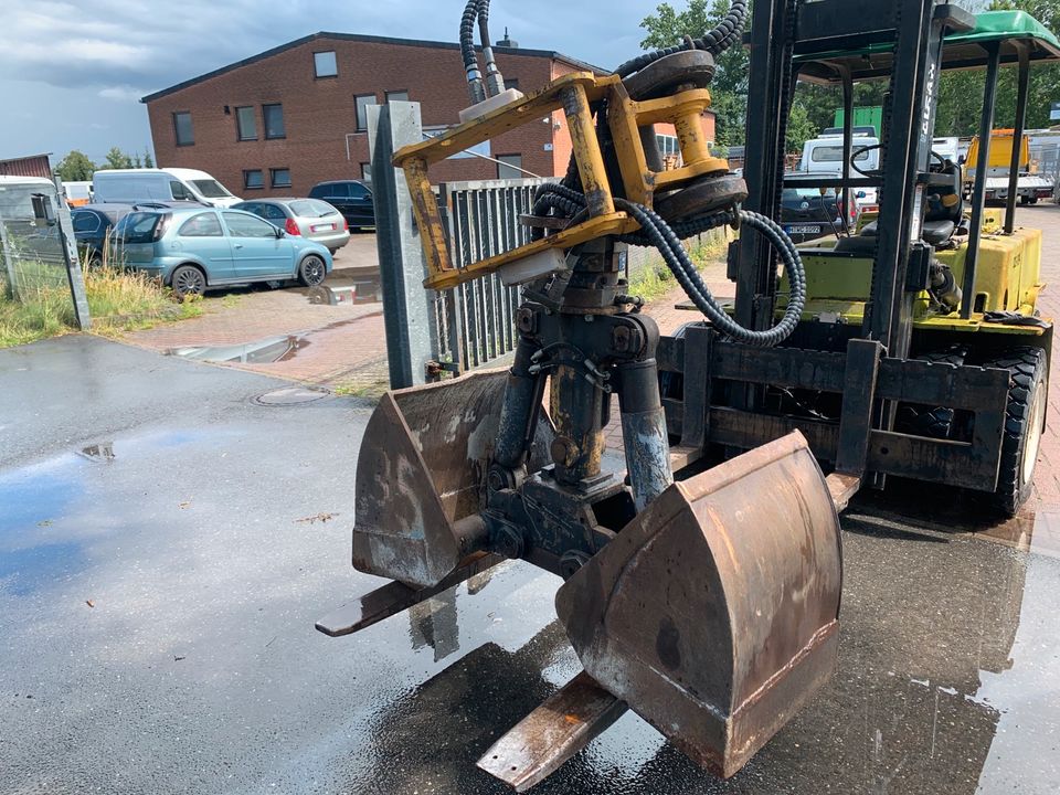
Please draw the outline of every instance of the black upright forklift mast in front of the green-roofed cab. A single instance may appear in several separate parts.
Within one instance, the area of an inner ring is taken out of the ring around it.
[[[905,359],[912,339],[915,295],[928,284],[931,246],[920,240],[923,191],[928,179],[941,77],[942,46],[947,32],[971,30],[975,18],[939,0],[776,0],[755,3],[749,34],[751,85],[744,171],[746,206],[768,218],[780,212],[785,139],[792,97],[798,80],[797,56],[850,51],[893,43],[893,70],[884,97],[880,170],[851,176],[854,80],[849,71],[833,75],[844,93],[844,171],[838,178],[801,180],[799,184],[880,191],[879,243],[862,338],[879,342],[892,358]],[[886,75],[881,75],[886,76]],[[776,300],[773,253],[757,240],[734,244],[736,319],[767,328]]]

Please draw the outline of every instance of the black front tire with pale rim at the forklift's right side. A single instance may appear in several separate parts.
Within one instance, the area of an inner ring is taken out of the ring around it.
[[[1001,437],[1001,468],[992,502],[1014,517],[1030,497],[1041,449],[1049,402],[1048,360],[1040,348],[1013,348],[983,367],[1013,374]]]

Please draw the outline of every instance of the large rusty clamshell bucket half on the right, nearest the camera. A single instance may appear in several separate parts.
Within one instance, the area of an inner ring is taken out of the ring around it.
[[[677,483],[574,574],[585,670],[713,772],[738,772],[830,677],[839,520],[793,434]]]

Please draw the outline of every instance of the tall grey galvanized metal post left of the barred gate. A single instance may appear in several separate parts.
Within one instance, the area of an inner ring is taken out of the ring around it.
[[[427,381],[427,363],[437,350],[437,326],[423,286],[426,265],[412,199],[393,157],[403,146],[423,140],[420,103],[369,106],[368,128],[390,386],[417,386]]]

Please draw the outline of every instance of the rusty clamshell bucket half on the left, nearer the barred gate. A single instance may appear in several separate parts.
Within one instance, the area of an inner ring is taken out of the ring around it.
[[[388,392],[357,465],[353,565],[418,587],[442,582],[470,551],[508,371]],[[542,412],[530,466],[553,432]]]

